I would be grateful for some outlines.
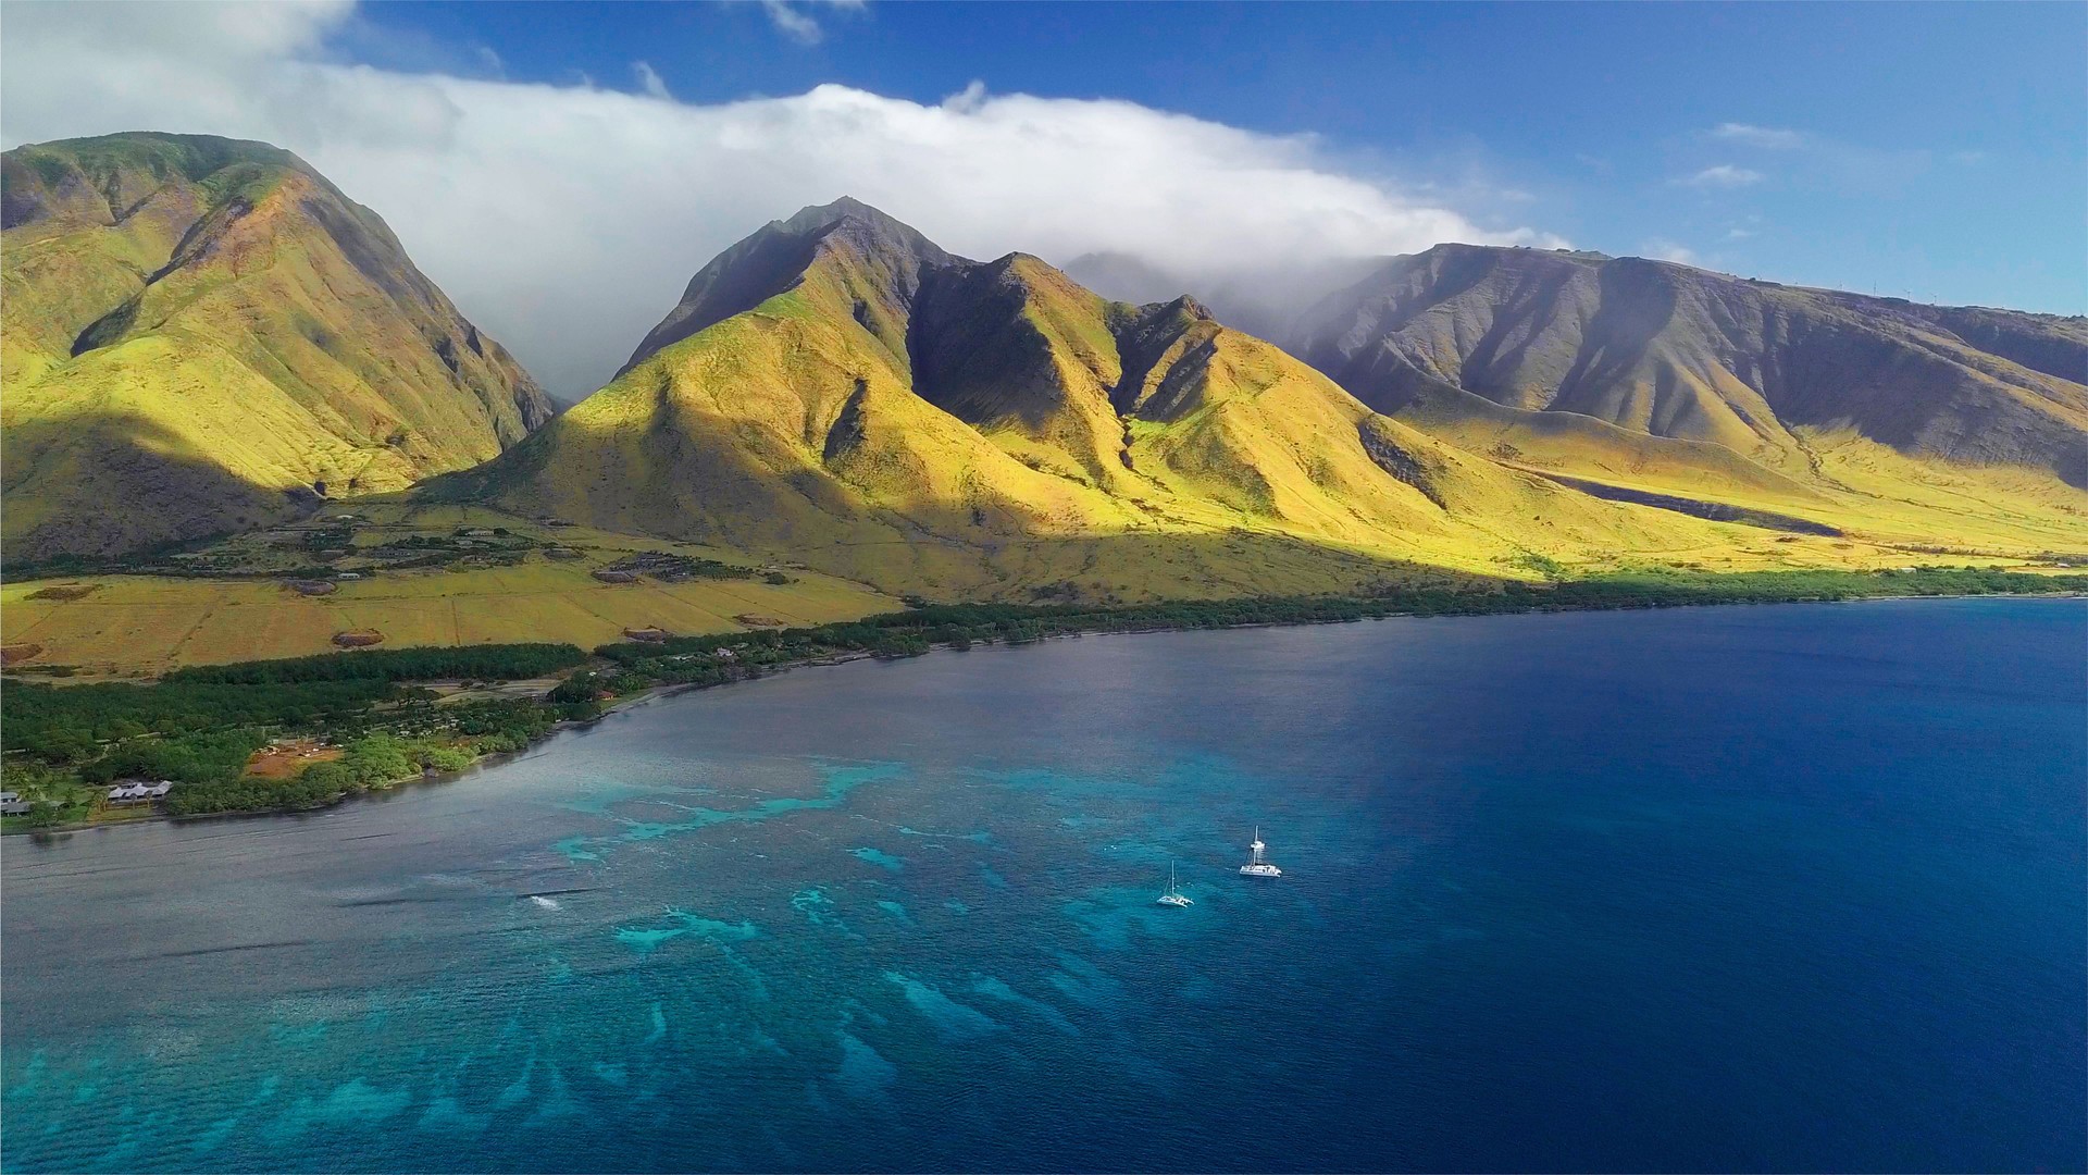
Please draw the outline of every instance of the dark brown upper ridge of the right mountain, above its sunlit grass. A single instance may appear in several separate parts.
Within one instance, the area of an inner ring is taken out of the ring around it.
[[[1439,245],[1328,295],[1288,343],[1391,410],[1443,385],[1741,454],[1796,450],[1792,424],[1848,424],[1904,454],[2044,466],[2088,487],[2088,320]]]

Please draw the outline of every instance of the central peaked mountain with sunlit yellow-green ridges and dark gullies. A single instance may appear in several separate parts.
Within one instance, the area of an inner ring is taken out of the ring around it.
[[[1313,590],[1735,529],[1439,443],[1186,297],[1111,303],[854,201],[725,251],[610,387],[430,491],[969,594]]]

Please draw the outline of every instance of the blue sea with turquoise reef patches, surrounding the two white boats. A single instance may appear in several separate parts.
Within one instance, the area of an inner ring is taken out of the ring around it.
[[[2084,797],[2080,602],[798,671],[8,838],[0,1160],[2078,1171]]]

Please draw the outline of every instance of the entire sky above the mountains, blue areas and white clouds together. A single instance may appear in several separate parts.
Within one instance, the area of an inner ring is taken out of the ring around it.
[[[839,194],[1280,307],[1472,240],[2084,314],[2084,46],[2088,4],[8,0],[0,146],[296,151],[583,395]]]

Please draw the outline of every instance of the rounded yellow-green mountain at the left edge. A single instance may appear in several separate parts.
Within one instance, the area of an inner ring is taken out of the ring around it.
[[[267,523],[466,468],[551,416],[370,209],[261,142],[0,157],[6,556]]]

